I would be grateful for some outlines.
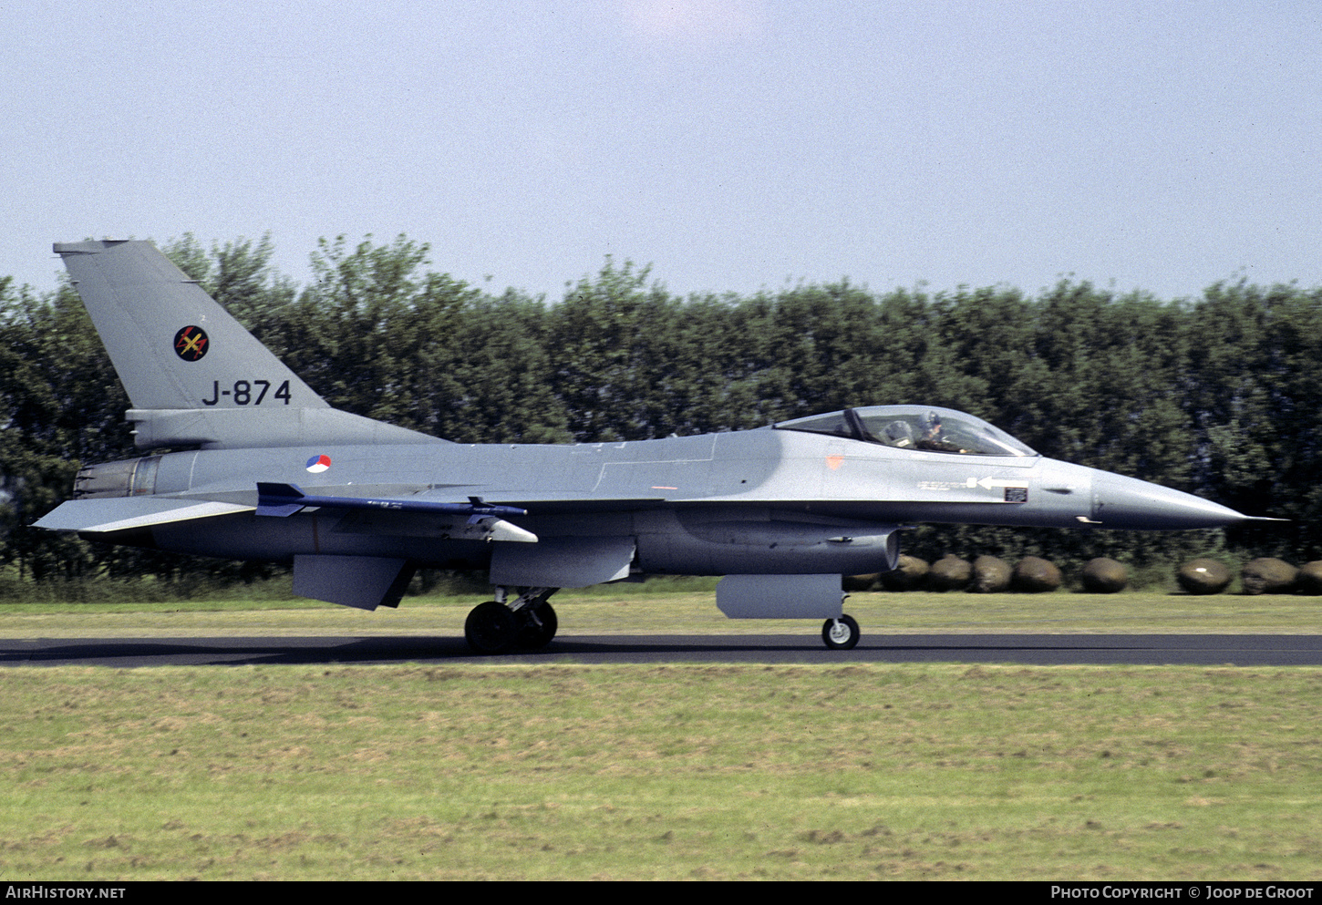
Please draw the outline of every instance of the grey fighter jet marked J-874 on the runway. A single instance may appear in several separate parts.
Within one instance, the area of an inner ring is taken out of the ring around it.
[[[917,522],[1208,528],[1235,510],[1039,456],[986,421],[871,406],[754,431],[456,444],[332,408],[148,242],[54,246],[128,391],[139,458],[85,466],[54,531],[293,565],[293,592],[397,606],[415,569],[489,572],[484,654],[537,649],[561,588],[719,575],[731,618],[824,620]],[[151,453],[149,451],[163,451]]]

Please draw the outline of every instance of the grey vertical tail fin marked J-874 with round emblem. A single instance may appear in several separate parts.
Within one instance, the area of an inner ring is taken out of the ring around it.
[[[341,412],[151,242],[59,242],[143,448],[435,443]]]

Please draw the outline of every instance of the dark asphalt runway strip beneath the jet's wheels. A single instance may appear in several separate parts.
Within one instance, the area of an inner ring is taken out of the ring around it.
[[[865,634],[845,651],[810,635],[563,635],[501,657],[475,657],[452,637],[0,639],[0,666],[557,662],[1322,666],[1322,635]]]

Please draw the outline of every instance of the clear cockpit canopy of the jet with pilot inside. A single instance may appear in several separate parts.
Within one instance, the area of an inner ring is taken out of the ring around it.
[[[899,449],[962,456],[1036,456],[980,417],[933,406],[869,406],[772,424],[777,431],[829,433]]]

